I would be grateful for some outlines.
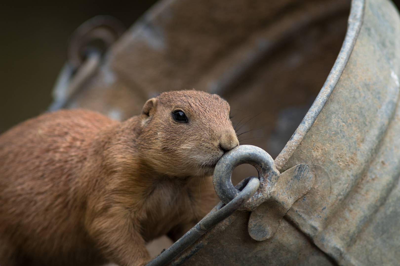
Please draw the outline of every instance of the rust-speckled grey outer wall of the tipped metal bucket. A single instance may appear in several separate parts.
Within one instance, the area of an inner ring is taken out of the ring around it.
[[[300,145],[280,167],[300,163],[321,167],[317,185],[292,206],[286,219],[340,265],[398,265],[400,259],[400,204],[394,203],[400,174],[399,34],[400,20],[392,4],[367,1],[362,28],[338,84]],[[227,230],[234,226],[237,232],[245,229],[240,219]],[[233,236],[227,234],[214,238],[185,265],[217,263],[210,253],[224,252],[234,256],[220,265],[236,264],[238,257],[238,265],[260,263],[262,255],[252,249],[268,253],[265,258],[272,265],[298,262],[296,256],[276,258],[275,254],[282,255],[280,244],[268,240],[249,244],[246,238],[232,244]],[[291,237],[279,235],[279,241],[290,242]]]

